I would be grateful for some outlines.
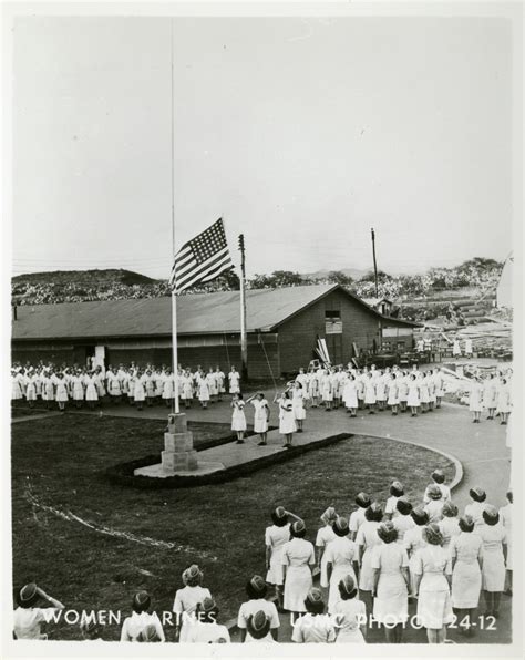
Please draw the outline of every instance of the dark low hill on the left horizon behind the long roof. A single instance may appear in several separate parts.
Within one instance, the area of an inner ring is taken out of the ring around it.
[[[76,285],[83,287],[125,285],[154,285],[158,280],[122,268],[102,270],[53,270],[48,272],[29,272],[17,275],[11,279],[13,285]]]

